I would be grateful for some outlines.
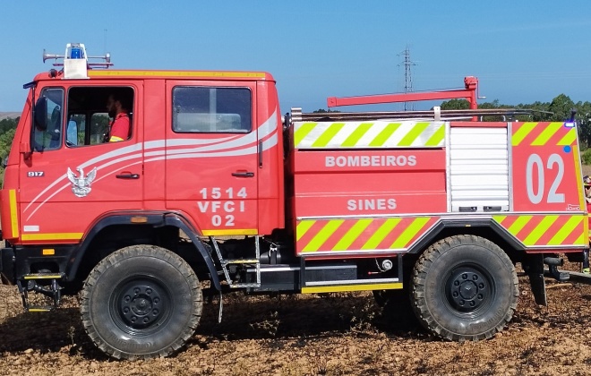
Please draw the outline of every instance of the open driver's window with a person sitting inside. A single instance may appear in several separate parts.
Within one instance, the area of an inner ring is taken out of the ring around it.
[[[111,106],[113,98],[119,102]],[[117,117],[125,117],[129,129],[118,134],[120,141],[133,135],[134,92],[129,87],[73,87],[68,92],[68,123],[66,146],[97,145],[111,139],[111,125]],[[121,115],[124,114],[124,115]]]

